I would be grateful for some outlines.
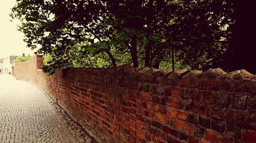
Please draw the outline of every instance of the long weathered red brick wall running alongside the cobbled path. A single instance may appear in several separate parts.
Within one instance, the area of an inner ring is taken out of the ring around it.
[[[125,65],[65,69],[47,77],[41,70],[27,75],[18,68],[16,77],[35,76],[103,142],[256,142],[256,76],[245,70],[202,73]]]

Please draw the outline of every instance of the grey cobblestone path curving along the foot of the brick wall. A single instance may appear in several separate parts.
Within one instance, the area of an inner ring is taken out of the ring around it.
[[[0,142],[96,142],[34,83],[0,74]]]

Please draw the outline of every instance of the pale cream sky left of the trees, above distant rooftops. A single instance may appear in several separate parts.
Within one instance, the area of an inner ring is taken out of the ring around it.
[[[0,59],[10,55],[34,55],[34,51],[26,47],[23,41],[24,34],[17,31],[18,20],[10,22],[9,16],[11,8],[15,5],[16,0],[0,1]]]

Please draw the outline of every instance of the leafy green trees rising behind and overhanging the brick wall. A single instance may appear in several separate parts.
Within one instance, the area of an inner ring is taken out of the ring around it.
[[[168,58],[203,69],[228,48],[232,5],[228,0],[19,0],[11,16],[22,22],[28,47],[39,44],[39,54],[52,56],[46,72],[120,64],[163,68],[170,65]]]

